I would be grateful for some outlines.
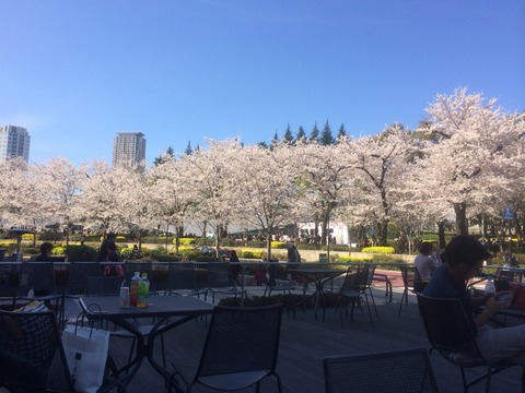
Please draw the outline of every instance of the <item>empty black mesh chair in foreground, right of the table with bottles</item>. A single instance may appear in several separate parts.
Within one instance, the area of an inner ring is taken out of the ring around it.
[[[237,391],[257,385],[276,372],[282,306],[219,307],[211,317],[197,372],[187,386],[202,384],[218,391]]]

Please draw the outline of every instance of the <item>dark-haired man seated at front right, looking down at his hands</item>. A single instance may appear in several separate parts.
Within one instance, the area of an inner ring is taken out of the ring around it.
[[[509,360],[525,366],[525,324],[513,327],[494,329],[487,320],[510,301],[498,301],[493,295],[470,297],[466,287],[469,278],[481,269],[483,261],[491,255],[475,238],[456,236],[445,248],[445,263],[432,275],[423,295],[436,298],[459,299],[469,317],[481,355],[489,362]],[[485,306],[482,311],[475,310]]]

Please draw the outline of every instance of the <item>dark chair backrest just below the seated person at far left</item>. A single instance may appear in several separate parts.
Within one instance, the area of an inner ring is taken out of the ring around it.
[[[35,296],[55,295],[57,293],[52,262],[22,262],[18,295],[27,296],[32,288]]]

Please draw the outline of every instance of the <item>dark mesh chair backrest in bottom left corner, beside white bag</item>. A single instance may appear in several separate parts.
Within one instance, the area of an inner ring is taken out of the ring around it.
[[[0,365],[10,391],[74,391],[51,311],[0,311]]]

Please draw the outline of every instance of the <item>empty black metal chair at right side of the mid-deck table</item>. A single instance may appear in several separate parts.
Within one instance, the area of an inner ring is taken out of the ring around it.
[[[327,295],[335,297],[337,301],[337,308],[339,309],[339,314],[341,318],[341,326],[345,327],[342,319],[342,308],[345,308],[346,315],[348,317],[348,303],[351,303],[350,317],[353,321],[353,312],[355,306],[362,307],[361,297],[364,296],[364,301],[366,302],[366,309],[369,311],[370,323],[374,325],[372,319],[372,311],[370,310],[369,295],[371,296],[372,305],[375,310],[376,317],[378,317],[377,308],[375,307],[375,300],[372,295],[371,284],[374,276],[375,265],[363,263],[355,264],[348,269],[348,272],[345,276],[342,285],[338,291],[326,290]],[[323,321],[325,320],[325,307],[323,307]]]

